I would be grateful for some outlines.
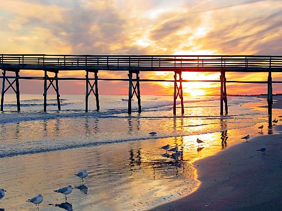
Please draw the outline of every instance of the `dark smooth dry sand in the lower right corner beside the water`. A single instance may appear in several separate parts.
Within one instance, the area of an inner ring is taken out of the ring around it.
[[[258,136],[198,160],[198,189],[152,210],[282,210],[281,146],[281,133]]]

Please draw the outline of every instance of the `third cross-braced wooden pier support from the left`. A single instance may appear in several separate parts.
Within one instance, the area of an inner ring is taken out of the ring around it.
[[[94,83],[92,84],[89,80],[89,72],[94,73]],[[86,70],[86,93],[85,93],[85,112],[88,112],[88,97],[91,94],[91,92],[93,92],[95,98],[96,98],[96,110],[99,111],[100,110],[100,106],[99,106],[99,93],[98,93],[98,70],[94,70],[94,71],[89,71]],[[89,86],[90,86],[90,91],[89,91]],[[95,91],[94,91],[95,88]]]

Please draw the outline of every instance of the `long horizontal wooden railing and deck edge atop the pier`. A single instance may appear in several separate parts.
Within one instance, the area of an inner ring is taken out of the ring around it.
[[[273,71],[282,68],[282,56],[194,56],[194,55],[39,55],[39,54],[0,54],[1,67],[21,68],[77,68],[139,71],[183,71],[218,70],[221,68],[237,71],[254,69]]]

